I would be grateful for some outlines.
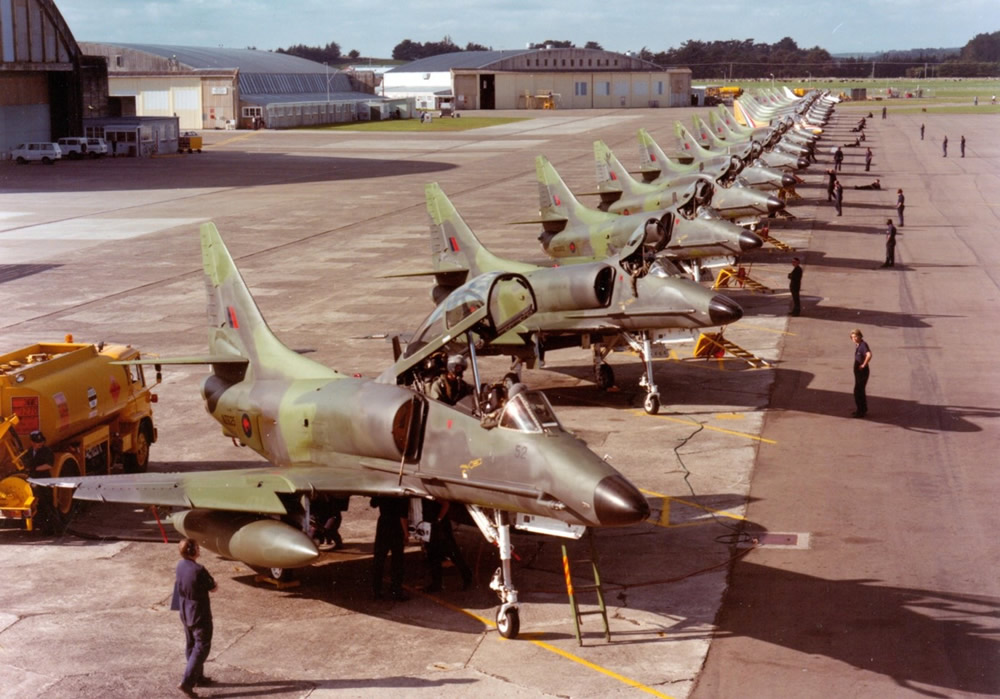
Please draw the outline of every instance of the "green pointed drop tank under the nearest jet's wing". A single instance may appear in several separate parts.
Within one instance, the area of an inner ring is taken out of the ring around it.
[[[301,568],[319,558],[304,532],[278,519],[243,512],[185,510],[174,528],[220,556],[260,568]]]

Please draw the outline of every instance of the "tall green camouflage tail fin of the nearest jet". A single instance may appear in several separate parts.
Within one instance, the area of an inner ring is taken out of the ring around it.
[[[289,349],[274,335],[214,223],[201,226],[201,256],[208,294],[211,356],[244,358],[249,364],[248,374],[255,378],[337,375]]]

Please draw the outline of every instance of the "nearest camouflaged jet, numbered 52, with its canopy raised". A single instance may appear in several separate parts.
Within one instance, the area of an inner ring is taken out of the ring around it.
[[[201,228],[209,297],[209,354],[158,364],[206,364],[201,387],[227,438],[270,462],[258,468],[49,478],[80,500],[183,508],[185,536],[258,568],[296,568],[319,556],[303,531],[320,495],[447,500],[468,507],[499,544],[497,626],[520,628],[511,580],[510,527],[580,536],[586,527],[643,521],[632,483],[566,432],[541,393],[523,390],[487,416],[431,400],[407,381],[434,353],[475,348],[536,309],[524,277],[493,273],[459,287],[378,380],[354,378],[289,349],[271,332],[213,224]],[[523,388],[523,387],[522,387]],[[481,395],[476,393],[476,399]]]

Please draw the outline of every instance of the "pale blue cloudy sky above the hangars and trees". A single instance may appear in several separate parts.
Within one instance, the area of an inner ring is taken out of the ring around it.
[[[1000,0],[55,0],[77,41],[178,46],[325,46],[390,58],[404,39],[523,49],[596,41],[657,53],[685,41],[870,53],[958,48],[1000,30]]]

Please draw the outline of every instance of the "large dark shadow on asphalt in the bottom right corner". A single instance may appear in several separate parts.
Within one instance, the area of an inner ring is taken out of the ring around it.
[[[977,621],[1000,617],[994,597],[825,579],[745,559],[732,576],[739,583],[729,588],[717,637],[828,657],[924,696],[997,693],[1000,640]],[[929,661],[928,648],[947,659]]]

